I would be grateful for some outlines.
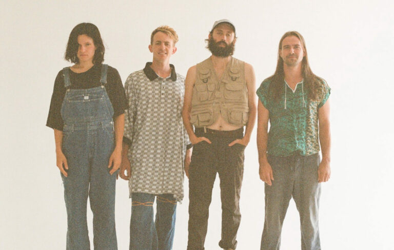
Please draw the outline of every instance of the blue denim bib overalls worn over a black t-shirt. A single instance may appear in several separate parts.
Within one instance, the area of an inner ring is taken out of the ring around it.
[[[115,181],[108,162],[114,150],[113,108],[104,85],[108,65],[102,65],[101,86],[70,89],[69,68],[63,69],[67,89],[61,114],[64,120],[62,150],[68,176],[62,174],[67,208],[67,249],[90,249],[86,207],[93,212],[94,249],[117,249],[115,232]]]

